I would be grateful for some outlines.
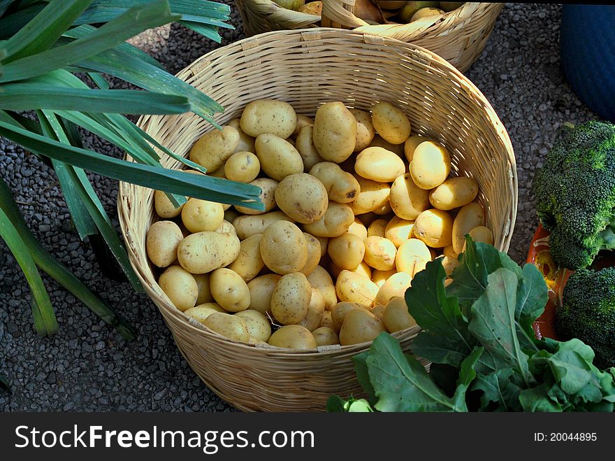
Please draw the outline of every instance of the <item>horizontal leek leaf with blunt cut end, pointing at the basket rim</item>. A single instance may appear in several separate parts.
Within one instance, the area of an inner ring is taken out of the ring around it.
[[[0,92],[0,108],[29,111],[110,112],[126,114],[179,114],[190,111],[187,98],[139,90],[79,90],[76,88],[8,83]]]

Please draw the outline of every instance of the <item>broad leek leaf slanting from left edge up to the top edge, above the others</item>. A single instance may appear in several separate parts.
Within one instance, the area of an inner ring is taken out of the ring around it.
[[[145,29],[179,18],[180,15],[171,14],[166,0],[153,0],[145,6],[136,6],[84,38],[1,66],[0,82],[23,80],[69,66],[113,48]]]

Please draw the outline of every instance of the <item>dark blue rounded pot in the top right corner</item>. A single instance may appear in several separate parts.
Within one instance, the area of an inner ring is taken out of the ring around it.
[[[615,5],[563,5],[560,57],[579,99],[615,122]]]

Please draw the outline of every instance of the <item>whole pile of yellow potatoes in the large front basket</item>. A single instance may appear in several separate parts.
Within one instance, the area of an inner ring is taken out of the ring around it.
[[[411,136],[403,111],[249,103],[190,159],[261,187],[265,211],[154,193],[147,255],[186,315],[246,343],[312,349],[416,325],[403,299],[417,272],[458,264],[464,235],[493,243],[472,178],[449,178],[444,146]],[[201,174],[196,171],[193,173]]]

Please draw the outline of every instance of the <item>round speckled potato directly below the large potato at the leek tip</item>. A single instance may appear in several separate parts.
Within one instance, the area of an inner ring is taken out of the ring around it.
[[[260,248],[265,265],[276,274],[298,272],[307,262],[307,241],[292,222],[277,221],[267,227]]]

